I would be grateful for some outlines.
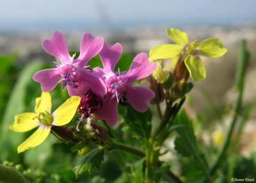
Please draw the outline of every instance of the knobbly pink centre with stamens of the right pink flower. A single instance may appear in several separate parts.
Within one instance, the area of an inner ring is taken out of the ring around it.
[[[112,93],[112,99],[116,97],[118,102],[120,98],[123,101],[122,96],[126,95],[124,83],[121,76],[114,75],[107,79],[107,91]]]

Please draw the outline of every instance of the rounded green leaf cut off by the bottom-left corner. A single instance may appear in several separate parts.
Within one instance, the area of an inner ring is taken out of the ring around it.
[[[13,167],[6,167],[0,164],[1,183],[26,183],[24,176]]]

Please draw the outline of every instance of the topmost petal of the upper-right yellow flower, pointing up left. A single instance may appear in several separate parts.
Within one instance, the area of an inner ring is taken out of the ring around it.
[[[189,44],[187,34],[185,32],[180,31],[179,29],[168,29],[166,28],[166,33],[171,40],[173,40],[176,44],[184,46],[185,44]]]

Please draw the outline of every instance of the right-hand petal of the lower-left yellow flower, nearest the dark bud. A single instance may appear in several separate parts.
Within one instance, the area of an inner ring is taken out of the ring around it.
[[[79,96],[72,96],[71,98],[67,99],[55,112],[52,113],[53,123],[52,125],[55,126],[63,126],[69,123],[74,114],[77,111],[77,107],[80,104],[80,97]]]

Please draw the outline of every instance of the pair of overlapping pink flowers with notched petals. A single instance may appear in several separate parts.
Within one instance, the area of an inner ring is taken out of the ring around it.
[[[61,64],[54,62],[57,68],[45,69],[33,76],[34,81],[41,84],[42,91],[51,91],[58,82],[61,82],[62,88],[67,86],[69,96],[82,97],[90,89],[103,105],[100,108],[98,106],[97,109],[99,109],[96,111],[87,110],[85,113],[90,115],[94,112],[96,120],[106,120],[109,126],[117,122],[117,105],[120,100],[123,101],[123,97],[127,98],[134,109],[145,112],[148,108],[147,101],[155,96],[154,92],[147,87],[132,86],[133,82],[149,76],[156,69],[157,64],[149,62],[146,53],[140,53],[134,58],[127,73],[120,71],[115,73],[114,68],[122,54],[122,46],[119,43],[110,46],[104,42],[103,38],[95,38],[91,33],[84,33],[80,55],[74,59],[75,55],[73,57],[69,55],[64,36],[55,31],[50,40],[43,41],[42,46],[47,53],[61,61]],[[97,54],[102,60],[103,68],[96,67],[91,71],[87,69],[89,66],[86,64]],[[83,109],[91,108],[85,100],[81,102],[80,107]],[[87,116],[85,113],[83,117]]]

